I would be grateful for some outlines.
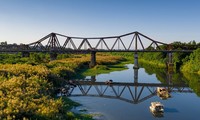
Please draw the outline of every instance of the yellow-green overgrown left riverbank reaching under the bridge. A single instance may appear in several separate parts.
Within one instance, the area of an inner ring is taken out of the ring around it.
[[[56,87],[60,87],[63,80],[69,80],[78,71],[88,68],[90,55],[62,55],[54,61],[48,60],[49,55],[35,53],[29,58],[6,54],[2,56],[0,119],[92,119],[92,115],[70,112],[77,103],[55,97]],[[109,65],[114,66],[123,60],[118,56],[97,54],[97,66],[109,68]]]

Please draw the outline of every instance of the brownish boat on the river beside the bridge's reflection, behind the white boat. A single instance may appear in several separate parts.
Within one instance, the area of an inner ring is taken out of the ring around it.
[[[169,94],[168,90],[164,87],[157,87],[157,95],[161,98],[161,99],[167,99],[169,97],[171,97],[171,95]]]

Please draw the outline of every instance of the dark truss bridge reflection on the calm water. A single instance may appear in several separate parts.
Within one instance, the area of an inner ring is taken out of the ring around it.
[[[157,95],[157,87],[164,87],[170,94],[173,92],[193,92],[186,84],[172,84],[168,74],[167,83],[140,83],[138,82],[137,69],[134,70],[134,82],[98,82],[95,77],[91,79],[76,80],[76,87],[71,87],[69,96],[91,96],[110,99],[119,99],[125,102],[138,104]],[[105,80],[106,81],[106,80]]]

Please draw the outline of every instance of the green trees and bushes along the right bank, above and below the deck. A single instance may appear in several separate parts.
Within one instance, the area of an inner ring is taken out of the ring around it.
[[[159,46],[161,49],[167,49],[167,46]],[[154,48],[147,48],[154,49]],[[191,41],[188,43],[173,42],[171,50],[194,50],[193,52],[175,52],[173,53],[173,64],[175,71],[197,73],[200,75],[200,43]],[[134,53],[112,53],[132,60]],[[146,63],[152,67],[165,68],[168,60],[168,54],[164,52],[139,52],[139,62]]]

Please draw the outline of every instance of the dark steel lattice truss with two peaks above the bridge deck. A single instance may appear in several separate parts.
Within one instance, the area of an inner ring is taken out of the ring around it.
[[[62,44],[61,44],[62,42]],[[51,33],[42,39],[28,44],[31,50],[41,51],[137,51],[162,50],[160,45],[168,45],[153,40],[139,32],[132,32],[111,37],[70,37],[58,33]]]

